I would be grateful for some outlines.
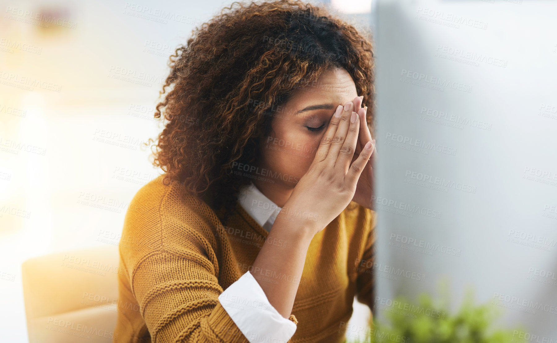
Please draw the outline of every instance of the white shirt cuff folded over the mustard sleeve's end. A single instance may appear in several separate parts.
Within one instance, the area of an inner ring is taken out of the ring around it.
[[[224,290],[218,300],[250,343],[286,343],[296,332],[296,324],[270,304],[250,271]]]

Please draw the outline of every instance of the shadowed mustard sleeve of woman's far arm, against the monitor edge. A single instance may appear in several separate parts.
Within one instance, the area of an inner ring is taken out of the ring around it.
[[[375,278],[373,277],[373,264],[375,263],[375,212],[371,211],[371,213],[371,228],[365,243],[364,255],[356,265],[358,270],[356,299],[362,304],[368,305],[369,309],[373,311],[373,299],[375,297]]]

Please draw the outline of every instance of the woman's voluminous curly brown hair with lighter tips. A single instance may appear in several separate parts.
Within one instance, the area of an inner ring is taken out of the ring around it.
[[[344,68],[368,106],[373,132],[373,52],[363,33],[301,1],[234,2],[170,56],[155,118],[167,121],[153,165],[213,210],[233,212],[242,185],[233,162],[253,165],[274,108],[330,67]],[[167,89],[168,88],[168,89]]]

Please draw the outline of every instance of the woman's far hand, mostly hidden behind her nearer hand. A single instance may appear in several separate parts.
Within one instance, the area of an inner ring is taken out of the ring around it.
[[[373,143],[372,157],[365,164],[363,172],[361,172],[360,178],[358,179],[358,185],[356,186],[356,192],[354,193],[354,202],[359,203],[365,208],[372,208],[372,196],[373,196],[373,164],[375,156],[377,156],[377,150],[375,148],[375,140],[372,138],[372,134],[369,132],[369,127],[367,125],[367,120],[365,119],[368,107],[361,108],[361,102],[363,96],[354,98],[354,111],[360,116],[360,134],[358,136],[358,144],[356,145],[356,153],[352,161],[355,161],[356,157],[360,154],[363,146],[368,141]]]

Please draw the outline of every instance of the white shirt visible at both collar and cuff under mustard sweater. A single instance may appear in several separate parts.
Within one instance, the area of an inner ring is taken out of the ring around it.
[[[238,202],[267,231],[271,231],[282,209],[263,195],[253,182],[240,188]],[[271,342],[287,342],[296,332],[296,324],[271,305],[249,270],[224,290],[218,300],[250,343],[260,343],[257,337],[269,337]],[[238,301],[251,306],[238,306]]]

